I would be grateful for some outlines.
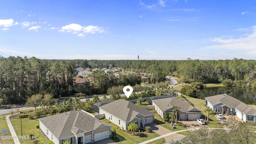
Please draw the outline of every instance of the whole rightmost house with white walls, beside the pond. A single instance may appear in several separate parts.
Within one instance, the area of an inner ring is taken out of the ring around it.
[[[256,110],[227,94],[219,94],[205,98],[206,106],[213,112],[221,114],[235,114],[238,118],[246,121],[256,121]]]

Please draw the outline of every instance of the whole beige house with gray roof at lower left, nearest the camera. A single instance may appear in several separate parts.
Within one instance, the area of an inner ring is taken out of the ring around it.
[[[54,144],[86,144],[109,138],[110,125],[81,111],[38,118],[42,132]]]

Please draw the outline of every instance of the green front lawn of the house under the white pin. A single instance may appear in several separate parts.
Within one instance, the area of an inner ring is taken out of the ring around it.
[[[106,119],[102,119],[102,121],[111,125],[112,126],[111,130],[112,131],[114,130],[114,126],[116,126],[115,124],[108,123],[108,120],[106,120]],[[144,142],[146,140],[150,140],[152,138],[156,138],[156,137],[160,136],[159,134],[148,133],[148,132],[142,132],[142,134],[140,134],[140,136],[129,136],[128,134],[126,134],[124,132],[124,130],[120,130],[119,128],[116,129],[116,134],[120,140],[120,142],[118,142],[118,144],[134,144],[134,142],[136,142],[136,144],[138,144],[140,142]],[[152,142],[151,144],[163,144],[165,142],[166,142],[165,139],[160,139],[160,140],[156,140],[156,141]]]

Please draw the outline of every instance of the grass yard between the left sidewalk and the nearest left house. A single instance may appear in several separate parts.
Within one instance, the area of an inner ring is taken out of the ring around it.
[[[12,126],[17,134],[17,136],[21,136],[21,126],[20,126],[20,118],[12,118],[10,119],[12,122]],[[37,137],[37,140],[39,140],[40,144],[47,144],[48,140],[44,137],[44,133],[41,132],[40,128],[36,128],[36,124],[39,124],[39,121],[36,120],[30,120],[28,118],[22,118],[22,135],[28,136],[29,134],[34,134],[35,137]],[[21,144],[30,144],[32,143],[32,140],[28,139],[20,139]]]

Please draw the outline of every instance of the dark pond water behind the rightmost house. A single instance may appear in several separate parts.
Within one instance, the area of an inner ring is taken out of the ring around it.
[[[204,88],[196,91],[198,98],[203,99],[208,96],[214,96],[218,94],[228,94],[245,104],[256,105],[256,88],[240,88],[240,87],[215,87]]]

